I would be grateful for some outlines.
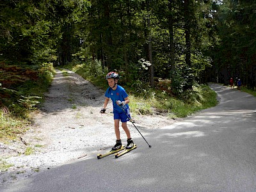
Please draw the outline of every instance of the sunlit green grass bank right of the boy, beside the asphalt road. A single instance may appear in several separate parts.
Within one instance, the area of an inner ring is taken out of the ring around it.
[[[151,91],[147,99],[131,95],[131,110],[137,114],[152,114],[153,108],[158,111],[168,113],[171,118],[186,117],[196,111],[211,108],[218,103],[216,93],[209,86],[193,86],[193,91],[188,90],[179,98],[168,95],[167,93]],[[152,108],[153,107],[153,108]]]

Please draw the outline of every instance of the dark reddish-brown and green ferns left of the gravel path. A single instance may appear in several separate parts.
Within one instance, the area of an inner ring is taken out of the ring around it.
[[[10,113],[26,117],[26,110],[35,108],[51,84],[54,69],[52,63],[30,65],[2,65],[3,82],[0,87],[0,107],[6,106]],[[4,76],[4,74],[7,74]],[[8,78],[12,76],[12,78]]]

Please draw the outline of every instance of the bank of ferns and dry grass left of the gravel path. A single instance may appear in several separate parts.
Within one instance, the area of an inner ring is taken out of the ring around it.
[[[1,69],[0,142],[7,142],[27,131],[31,112],[44,101],[55,71],[52,63],[35,66],[2,63]]]

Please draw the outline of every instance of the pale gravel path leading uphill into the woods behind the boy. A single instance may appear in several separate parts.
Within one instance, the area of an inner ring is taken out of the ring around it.
[[[100,150],[115,145],[111,102],[108,114],[100,114],[104,92],[74,72],[66,71],[63,76],[57,70],[49,92],[45,93],[44,106],[34,115],[28,132],[20,136],[20,140],[0,143],[0,164],[1,161],[2,164],[12,164],[0,173],[0,186],[53,166],[97,158]],[[175,122],[162,115],[132,118],[145,136],[154,129]],[[140,134],[130,122],[129,127],[136,143]],[[121,136],[125,141],[122,130]],[[32,154],[26,156],[24,153],[28,149],[32,150]]]

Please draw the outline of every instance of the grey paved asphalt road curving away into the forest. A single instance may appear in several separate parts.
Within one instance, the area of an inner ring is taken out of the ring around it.
[[[65,164],[0,191],[256,191],[256,99],[212,84],[220,104],[136,138],[138,148]],[[143,132],[142,132],[143,133]]]

